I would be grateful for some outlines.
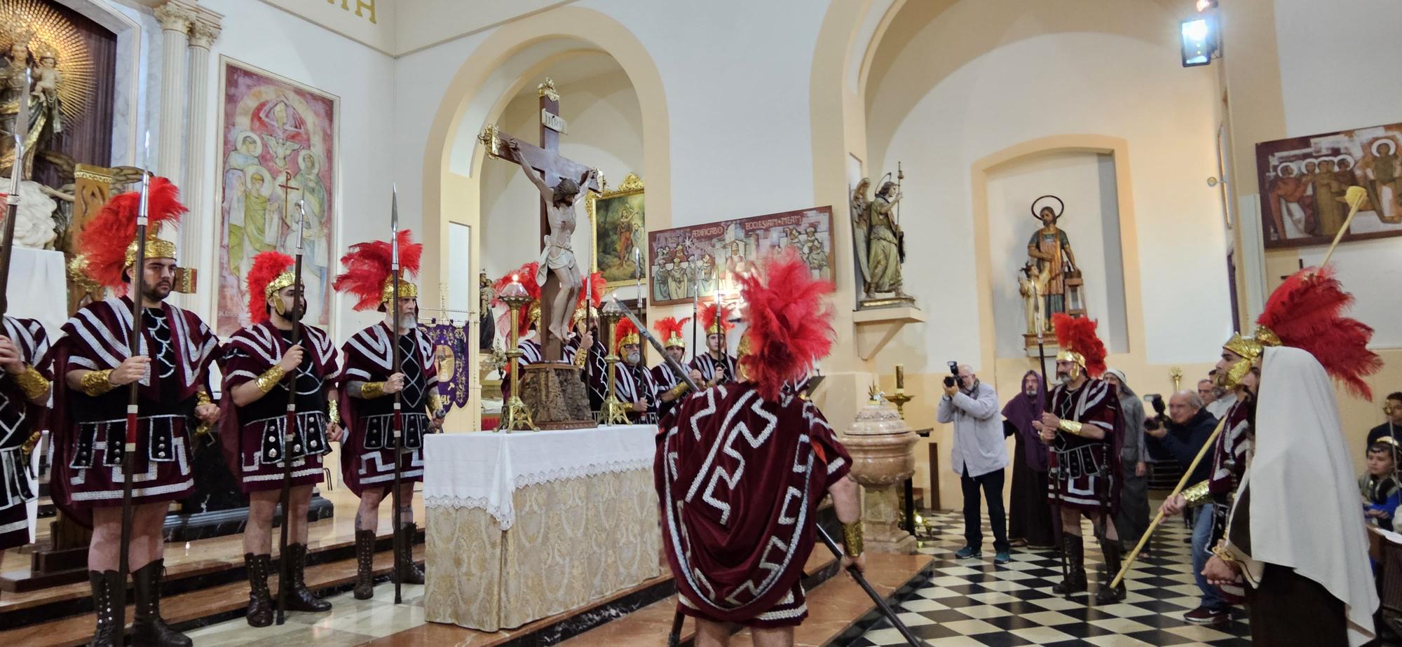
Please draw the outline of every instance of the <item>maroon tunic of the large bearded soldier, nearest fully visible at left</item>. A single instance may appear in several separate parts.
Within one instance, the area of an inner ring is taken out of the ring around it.
[[[87,522],[94,507],[122,504],[122,441],[128,388],[97,398],[67,388],[69,371],[116,368],[126,347],[132,301],[112,297],[79,309],[55,345],[53,478],[55,503]],[[132,501],[174,501],[195,487],[191,416],[195,394],[207,388],[219,340],[193,312],[161,304],[146,308],[140,352],[151,357],[139,388]]]

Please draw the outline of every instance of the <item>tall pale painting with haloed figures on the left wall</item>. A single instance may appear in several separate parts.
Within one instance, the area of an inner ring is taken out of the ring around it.
[[[245,276],[254,255],[297,246],[306,206],[307,324],[331,324],[339,99],[227,56],[220,57],[219,321],[248,324]]]

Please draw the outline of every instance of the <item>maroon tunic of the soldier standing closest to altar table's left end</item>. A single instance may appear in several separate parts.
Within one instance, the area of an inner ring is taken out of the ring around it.
[[[341,417],[346,427],[341,444],[341,478],[356,496],[366,489],[390,487],[394,482],[394,396],[374,399],[350,396],[350,382],[383,382],[394,364],[390,326],[376,324],[355,333],[341,350],[345,368],[336,388],[341,392]],[[418,328],[400,338],[404,391],[401,424],[407,452],[400,455],[400,482],[423,480],[423,434],[429,433],[429,394],[437,391],[433,346]],[[404,350],[409,350],[405,353]]]

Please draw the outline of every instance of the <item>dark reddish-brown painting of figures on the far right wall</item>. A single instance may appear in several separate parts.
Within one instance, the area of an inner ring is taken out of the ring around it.
[[[1349,216],[1343,195],[1368,199],[1343,241],[1402,235],[1402,123],[1256,144],[1262,235],[1267,248],[1333,241]]]

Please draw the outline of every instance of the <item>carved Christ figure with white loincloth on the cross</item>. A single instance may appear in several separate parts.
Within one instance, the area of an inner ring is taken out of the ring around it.
[[[550,335],[564,343],[569,336],[569,316],[575,312],[573,304],[583,287],[571,237],[575,234],[575,207],[583,202],[587,192],[580,189],[579,182],[569,178],[561,178],[559,183],[548,186],[545,178],[522,157],[520,141],[513,139],[506,144],[506,148],[510,160],[522,167],[526,179],[530,179],[540,189],[540,196],[545,200],[550,234],[544,237],[545,249],[540,252],[536,281],[544,286],[548,276],[554,276],[559,281],[559,291],[555,293],[555,301],[550,305],[551,321],[543,324]],[[596,174],[597,171],[589,169],[583,183],[587,186]]]

